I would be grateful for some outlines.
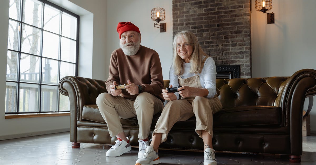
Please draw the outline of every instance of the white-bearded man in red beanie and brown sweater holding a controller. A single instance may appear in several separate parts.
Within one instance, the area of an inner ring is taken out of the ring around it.
[[[161,63],[157,52],[140,45],[142,37],[137,26],[131,22],[119,22],[117,32],[121,48],[114,50],[111,55],[109,78],[106,80],[108,93],[100,94],[96,103],[110,136],[118,139],[106,156],[120,156],[131,150],[120,118],[137,117],[140,158],[149,144],[153,115],[163,108]],[[117,89],[115,87],[118,84],[127,85]]]

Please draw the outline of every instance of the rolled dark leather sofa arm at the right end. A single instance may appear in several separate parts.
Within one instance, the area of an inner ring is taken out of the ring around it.
[[[313,69],[302,69],[295,72],[279,88],[275,106],[282,107],[283,126],[289,127],[290,155],[302,155],[304,101],[307,96],[314,95],[316,95],[316,70]]]

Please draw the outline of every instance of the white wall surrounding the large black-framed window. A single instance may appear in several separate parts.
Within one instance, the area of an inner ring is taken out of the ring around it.
[[[50,0],[80,15],[79,76],[106,79],[106,3],[104,0]],[[0,1],[0,140],[69,131],[70,116],[5,119],[9,0]],[[6,23],[7,22],[7,23]],[[7,30],[5,30],[7,29]],[[101,70],[101,71],[100,71]]]

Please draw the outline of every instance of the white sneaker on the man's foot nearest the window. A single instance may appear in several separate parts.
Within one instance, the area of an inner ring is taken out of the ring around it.
[[[113,145],[110,148],[110,150],[106,152],[106,156],[109,156],[109,157],[121,156],[122,154],[130,150],[132,150],[130,141],[128,140],[126,142],[125,140],[118,138],[115,141],[115,145]]]

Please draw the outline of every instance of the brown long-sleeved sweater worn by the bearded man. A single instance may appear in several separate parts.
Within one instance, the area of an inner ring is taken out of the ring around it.
[[[109,67],[109,78],[106,80],[106,89],[110,93],[110,85],[115,81],[117,84],[125,84],[131,80],[136,85],[142,85],[143,91],[148,92],[162,102],[161,90],[164,88],[162,69],[159,55],[156,51],[141,46],[133,56],[124,54],[121,48],[112,52]],[[126,90],[122,90],[122,95],[126,99],[136,99],[137,95],[130,95]]]

